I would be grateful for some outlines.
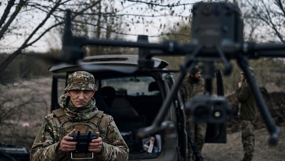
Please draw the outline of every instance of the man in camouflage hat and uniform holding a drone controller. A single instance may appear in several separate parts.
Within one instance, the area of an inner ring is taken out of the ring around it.
[[[77,142],[68,135],[77,131],[91,131],[98,136],[88,144],[88,150],[94,153],[89,160],[127,160],[129,149],[112,116],[95,106],[94,76],[76,71],[68,76],[65,90],[67,93],[60,97],[60,109],[44,119],[32,146],[31,160],[72,160],[70,151],[75,150]],[[73,153],[73,158],[89,157],[87,154]]]

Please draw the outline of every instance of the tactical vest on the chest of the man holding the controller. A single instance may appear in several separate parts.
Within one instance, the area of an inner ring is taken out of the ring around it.
[[[62,139],[65,135],[67,135],[69,132],[71,132],[73,129],[76,129],[77,131],[80,131],[80,133],[88,133],[91,131],[91,133],[96,133],[100,129],[98,129],[98,122],[101,119],[103,115],[103,111],[98,111],[98,113],[91,117],[88,120],[72,120],[69,119],[64,109],[60,108],[57,110],[52,111],[58,120],[61,123],[61,127],[59,130],[59,138]]]

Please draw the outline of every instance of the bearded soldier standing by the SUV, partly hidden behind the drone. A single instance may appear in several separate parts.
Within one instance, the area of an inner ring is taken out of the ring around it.
[[[205,81],[201,78],[201,69],[198,67],[194,67],[191,71],[189,71],[189,76],[183,81],[181,88],[182,99],[185,102],[191,101],[195,95],[204,94],[205,92]],[[206,135],[206,123],[195,123],[193,118],[187,114],[187,127],[190,131],[191,137],[196,142],[197,149],[202,150],[203,144],[205,142]],[[188,147],[190,146],[190,141],[188,141]],[[193,150],[189,149],[188,159],[192,160]]]

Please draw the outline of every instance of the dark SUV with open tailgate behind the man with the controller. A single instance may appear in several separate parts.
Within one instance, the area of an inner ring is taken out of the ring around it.
[[[136,136],[138,129],[152,124],[175,81],[173,73],[166,69],[168,62],[152,59],[155,61],[152,70],[138,70],[136,55],[89,56],[80,65],[52,66],[50,71],[64,75],[53,76],[51,110],[59,108],[58,97],[64,92],[68,75],[88,71],[96,79],[96,106],[113,116],[129,147],[129,160],[186,160],[185,110],[179,92],[165,118],[168,128],[147,138]],[[215,129],[211,132],[220,135],[221,131]]]

